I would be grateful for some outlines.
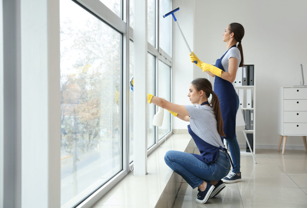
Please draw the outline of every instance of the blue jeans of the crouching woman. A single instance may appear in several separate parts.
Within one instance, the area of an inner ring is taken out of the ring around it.
[[[217,181],[226,177],[231,166],[229,156],[221,151],[212,164],[204,163],[190,153],[174,150],[166,152],[164,160],[192,188],[200,186],[204,181]]]

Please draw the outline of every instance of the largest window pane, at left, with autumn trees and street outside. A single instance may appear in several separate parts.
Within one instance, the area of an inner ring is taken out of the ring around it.
[[[122,34],[60,1],[61,205],[122,170],[121,54]]]

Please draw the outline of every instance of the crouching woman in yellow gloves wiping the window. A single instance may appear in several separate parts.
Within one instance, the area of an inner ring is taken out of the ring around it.
[[[210,94],[211,105],[208,102]],[[203,204],[225,188],[221,179],[229,173],[231,160],[220,139],[220,135],[224,135],[223,120],[219,98],[212,91],[210,81],[205,78],[194,79],[188,97],[196,105],[177,105],[152,94],[147,95],[147,101],[169,110],[183,121],[190,121],[188,132],[200,155],[168,151],[164,160],[193,189],[198,187],[196,202]]]

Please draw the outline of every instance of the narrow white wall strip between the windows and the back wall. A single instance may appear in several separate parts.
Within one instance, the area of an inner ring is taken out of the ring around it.
[[[185,36],[191,50],[193,50],[193,2],[189,0],[173,0],[175,17]],[[169,16],[170,18],[173,18]],[[179,105],[190,105],[188,99],[188,87],[193,80],[193,64],[190,61],[189,51],[178,29],[177,23],[173,21],[173,102]],[[173,117],[173,129],[187,129],[189,124]],[[176,133],[176,131],[174,131]]]

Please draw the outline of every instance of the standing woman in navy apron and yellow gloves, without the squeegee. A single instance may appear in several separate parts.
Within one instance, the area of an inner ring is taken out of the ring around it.
[[[239,23],[231,23],[223,33],[223,41],[226,42],[227,51],[216,60],[215,67],[200,61],[193,53],[190,54],[191,61],[197,61],[197,66],[206,71],[214,80],[214,92],[220,101],[220,108],[223,118],[223,130],[226,136],[221,135],[221,139],[226,139],[234,168],[223,178],[225,183],[235,183],[242,181],[240,172],[240,148],[235,134],[235,117],[239,108],[239,97],[232,83],[235,81],[238,67],[243,64],[242,38],[244,28]],[[239,42],[238,46],[236,44]]]

